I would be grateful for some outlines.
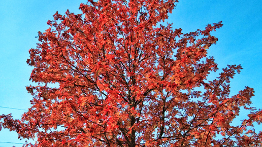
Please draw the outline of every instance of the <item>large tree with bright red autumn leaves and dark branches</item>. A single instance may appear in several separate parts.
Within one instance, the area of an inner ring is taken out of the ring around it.
[[[229,96],[242,67],[207,80],[221,22],[185,34],[159,25],[177,2],[89,0],[83,14],[54,14],[29,50],[32,106],[21,120],[0,116],[0,129],[37,137],[31,146],[261,146],[253,89]],[[233,126],[241,106],[249,119]]]

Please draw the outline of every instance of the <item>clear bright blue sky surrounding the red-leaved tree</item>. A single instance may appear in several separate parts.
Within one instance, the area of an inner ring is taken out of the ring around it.
[[[46,22],[58,11],[60,14],[69,9],[80,13],[80,3],[86,1],[32,1],[9,0],[0,3],[0,114],[10,114],[19,119],[28,109],[31,95],[25,86],[31,84],[31,67],[26,64],[28,50],[35,48],[38,31],[48,28]],[[219,69],[227,64],[241,64],[244,68],[231,82],[232,95],[245,86],[254,88],[253,104],[262,108],[262,11],[261,0],[184,0],[177,4],[168,22],[174,28],[181,27],[183,32],[204,29],[208,23],[223,21],[224,26],[213,34],[218,38],[216,45],[209,50]],[[219,70],[221,71],[221,70]],[[218,73],[216,73],[218,74]],[[213,74],[214,75],[214,74]],[[217,76],[217,75],[215,75]],[[242,111],[235,123],[246,118],[248,112]],[[262,126],[255,126],[256,132]],[[0,146],[22,146],[3,142],[24,143],[17,139],[15,132],[0,131]]]

